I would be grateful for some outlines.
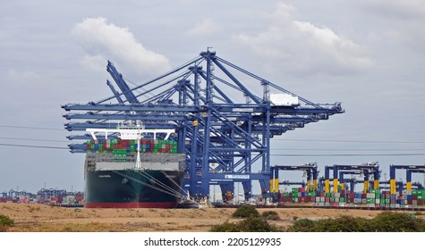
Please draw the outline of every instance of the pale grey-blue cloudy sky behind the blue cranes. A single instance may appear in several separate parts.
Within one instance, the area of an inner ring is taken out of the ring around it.
[[[3,1],[0,192],[83,190],[84,155],[63,149],[72,133],[61,104],[111,96],[107,60],[141,84],[207,47],[311,102],[342,102],[343,114],[275,138],[272,154],[302,155],[272,164],[317,162],[322,175],[326,165],[379,162],[383,179],[390,164],[423,164],[421,2]]]

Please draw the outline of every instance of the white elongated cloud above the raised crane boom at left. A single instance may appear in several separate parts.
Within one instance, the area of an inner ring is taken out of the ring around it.
[[[140,76],[154,76],[171,69],[166,56],[148,50],[129,29],[107,23],[106,18],[81,21],[73,27],[72,36],[86,53],[81,63],[91,69],[105,70],[106,60]]]

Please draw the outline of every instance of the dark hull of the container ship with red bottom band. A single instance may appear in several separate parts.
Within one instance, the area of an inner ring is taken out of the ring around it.
[[[182,181],[183,171],[86,171],[84,207],[174,208]]]

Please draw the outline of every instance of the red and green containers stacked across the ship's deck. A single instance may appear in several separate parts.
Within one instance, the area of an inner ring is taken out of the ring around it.
[[[88,153],[114,154],[115,157],[126,157],[127,154],[137,153],[136,140],[98,139],[88,140]],[[177,154],[177,142],[173,140],[140,139],[140,153]]]

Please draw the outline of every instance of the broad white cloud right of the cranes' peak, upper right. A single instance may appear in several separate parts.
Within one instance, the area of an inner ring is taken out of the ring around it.
[[[251,47],[259,62],[275,63],[286,73],[340,75],[373,65],[352,40],[327,27],[296,21],[293,12],[292,6],[277,4],[266,31],[257,36],[240,34],[236,39]]]

